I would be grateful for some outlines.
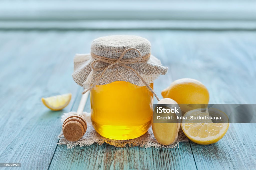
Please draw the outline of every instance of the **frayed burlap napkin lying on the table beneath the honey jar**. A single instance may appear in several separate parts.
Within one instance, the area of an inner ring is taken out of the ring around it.
[[[61,121],[64,122],[64,120],[71,116],[72,114],[75,114],[76,112],[69,112],[69,113],[64,113],[61,116]],[[179,145],[179,142],[187,142],[188,138],[184,135],[182,129],[180,129],[179,131],[179,135],[178,135],[178,139],[174,144],[171,145],[162,145],[160,143],[158,143],[154,137],[152,128],[150,127],[148,129],[148,131],[135,139],[130,139],[130,140],[113,140],[113,139],[108,139],[108,138],[104,138],[102,136],[100,136],[93,128],[92,123],[91,123],[91,118],[90,118],[90,113],[87,112],[83,112],[82,114],[87,122],[87,131],[86,133],[83,135],[83,137],[81,139],[79,139],[78,141],[75,142],[71,142],[68,141],[64,136],[63,133],[61,131],[61,133],[59,134],[58,138],[59,138],[59,142],[57,144],[59,145],[67,145],[68,148],[74,148],[77,145],[79,145],[80,147],[82,146],[90,146],[93,143],[98,143],[99,145],[103,144],[103,143],[108,143],[110,145],[113,145],[115,147],[134,147],[134,146],[138,146],[138,147],[145,147],[145,148],[150,148],[150,147],[163,147],[163,148],[175,148]]]

